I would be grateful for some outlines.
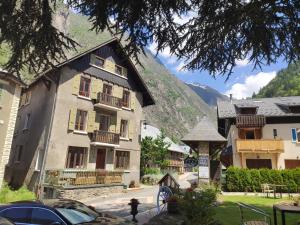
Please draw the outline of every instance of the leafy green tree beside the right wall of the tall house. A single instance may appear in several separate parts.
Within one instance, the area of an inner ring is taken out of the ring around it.
[[[168,166],[166,159],[170,144],[165,141],[166,135],[162,131],[156,138],[145,137],[141,143],[141,170],[151,166],[165,169]]]

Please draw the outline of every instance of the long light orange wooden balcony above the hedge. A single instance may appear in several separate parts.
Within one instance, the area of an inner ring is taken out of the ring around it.
[[[239,153],[283,153],[282,140],[236,140],[236,149]]]

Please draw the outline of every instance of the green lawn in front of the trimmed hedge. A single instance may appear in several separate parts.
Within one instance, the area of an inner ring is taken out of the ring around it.
[[[275,203],[287,201],[287,199],[272,199],[258,196],[220,196],[219,199],[223,201],[223,204],[216,208],[216,218],[221,222],[222,225],[240,225],[240,211],[237,206],[237,202],[243,202],[256,206],[269,215],[271,215],[273,221],[273,209],[272,206]],[[278,215],[278,224],[281,225],[281,217]],[[286,214],[287,225],[298,225],[300,222],[300,214]]]

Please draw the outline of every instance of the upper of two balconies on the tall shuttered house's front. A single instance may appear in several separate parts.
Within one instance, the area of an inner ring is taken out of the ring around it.
[[[122,110],[122,99],[99,92],[97,95],[95,107],[119,111]]]

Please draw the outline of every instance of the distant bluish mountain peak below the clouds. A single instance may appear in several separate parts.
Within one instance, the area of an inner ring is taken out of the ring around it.
[[[229,101],[229,98],[226,95],[221,94],[217,90],[202,85],[199,83],[186,83],[197,95],[200,96],[209,106],[217,106],[217,101]]]

